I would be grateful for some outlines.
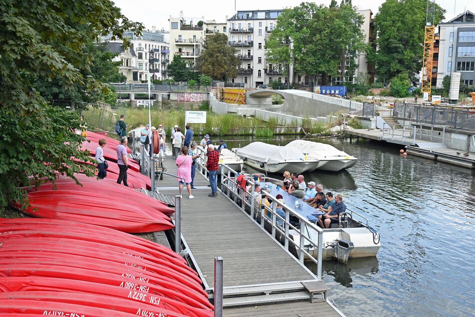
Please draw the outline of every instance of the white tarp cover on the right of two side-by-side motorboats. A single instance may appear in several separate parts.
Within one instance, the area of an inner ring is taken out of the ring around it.
[[[293,140],[292,142],[285,145],[285,147],[292,147],[297,148],[299,151],[303,153],[307,153],[308,159],[318,159],[318,160],[325,160],[325,159],[355,159],[356,157],[348,155],[344,151],[335,148],[330,144],[325,143],[318,143],[312,142],[307,140]]]

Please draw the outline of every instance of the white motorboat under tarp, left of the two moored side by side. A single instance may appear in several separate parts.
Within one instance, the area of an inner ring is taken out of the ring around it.
[[[291,170],[298,174],[314,170],[319,161],[309,159],[297,148],[278,146],[263,142],[252,142],[244,147],[233,149],[244,164],[270,173]]]

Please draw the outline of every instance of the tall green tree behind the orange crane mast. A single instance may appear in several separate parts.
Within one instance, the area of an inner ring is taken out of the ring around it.
[[[386,0],[379,7],[374,20],[376,48],[368,47],[368,60],[375,63],[380,80],[421,71],[426,5],[426,0]],[[444,19],[445,12],[436,4],[435,25]]]

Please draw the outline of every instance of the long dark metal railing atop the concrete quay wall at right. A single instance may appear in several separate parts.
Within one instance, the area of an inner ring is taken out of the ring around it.
[[[449,128],[475,131],[475,112],[459,107],[395,102],[393,116],[416,123],[445,125]]]

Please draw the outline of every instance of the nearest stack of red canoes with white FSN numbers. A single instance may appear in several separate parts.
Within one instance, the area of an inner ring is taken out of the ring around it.
[[[196,272],[162,245],[54,219],[0,219],[0,232],[0,315],[213,315]]]

